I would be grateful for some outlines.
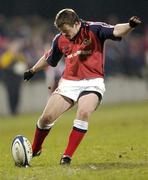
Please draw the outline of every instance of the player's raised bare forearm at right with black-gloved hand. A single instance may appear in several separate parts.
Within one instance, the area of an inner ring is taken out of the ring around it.
[[[116,37],[123,37],[131,32],[136,26],[141,23],[141,20],[137,16],[132,16],[128,23],[116,24],[113,34]]]

